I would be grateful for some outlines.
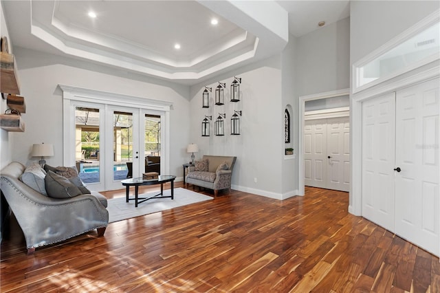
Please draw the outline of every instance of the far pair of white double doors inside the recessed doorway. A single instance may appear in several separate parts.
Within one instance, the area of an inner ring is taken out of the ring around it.
[[[349,117],[305,120],[305,185],[349,191]]]

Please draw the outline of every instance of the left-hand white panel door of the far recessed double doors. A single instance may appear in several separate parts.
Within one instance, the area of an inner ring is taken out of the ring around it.
[[[327,188],[327,121],[306,120],[304,129],[305,185]]]

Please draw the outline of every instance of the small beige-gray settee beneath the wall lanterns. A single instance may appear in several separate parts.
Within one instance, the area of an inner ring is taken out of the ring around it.
[[[186,184],[193,184],[214,191],[214,197],[217,197],[219,190],[231,188],[232,169],[236,157],[228,157],[223,155],[203,155],[201,161],[208,160],[208,171],[196,171],[195,166],[188,168],[186,175]],[[220,164],[226,163],[228,168],[217,170]]]

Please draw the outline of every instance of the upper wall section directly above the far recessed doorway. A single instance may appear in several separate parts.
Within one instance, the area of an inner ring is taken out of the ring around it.
[[[296,51],[298,96],[349,87],[350,18],[300,36]]]

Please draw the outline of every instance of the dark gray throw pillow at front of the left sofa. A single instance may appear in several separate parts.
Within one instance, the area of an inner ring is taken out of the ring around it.
[[[67,178],[49,171],[45,177],[47,195],[54,198],[70,198],[81,194],[78,187]]]

